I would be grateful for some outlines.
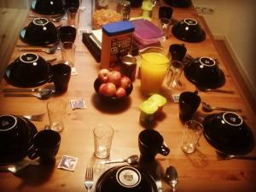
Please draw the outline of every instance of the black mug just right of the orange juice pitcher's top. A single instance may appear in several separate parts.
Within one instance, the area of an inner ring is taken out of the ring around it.
[[[182,62],[187,53],[187,49],[184,44],[171,44],[169,47],[169,53],[172,55],[172,61]]]

